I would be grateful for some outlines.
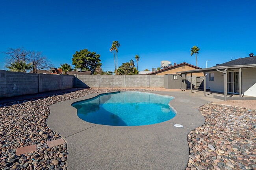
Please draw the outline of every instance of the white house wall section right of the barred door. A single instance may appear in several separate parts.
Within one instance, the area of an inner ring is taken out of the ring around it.
[[[242,69],[242,92],[256,97],[256,68]]]

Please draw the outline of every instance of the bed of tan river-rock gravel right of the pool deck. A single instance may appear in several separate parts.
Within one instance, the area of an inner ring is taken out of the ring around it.
[[[210,103],[199,111],[206,122],[188,134],[186,170],[256,170],[256,111]]]

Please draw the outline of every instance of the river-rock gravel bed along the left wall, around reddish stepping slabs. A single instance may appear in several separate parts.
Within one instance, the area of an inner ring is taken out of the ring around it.
[[[46,142],[61,138],[46,125],[49,106],[61,101],[108,91],[152,91],[146,89],[85,89],[0,104],[1,170],[66,170],[67,145],[48,148]],[[21,146],[37,145],[37,151],[16,155]]]

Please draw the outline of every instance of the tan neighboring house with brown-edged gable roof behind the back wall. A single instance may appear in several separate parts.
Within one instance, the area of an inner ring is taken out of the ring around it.
[[[148,73],[148,75],[177,74],[177,72],[179,72],[179,71],[188,71],[188,70],[192,70],[192,69],[200,69],[200,68],[197,67],[197,66],[193,66],[191,64],[188,64],[186,62],[182,62],[180,64],[176,64],[174,62],[173,66],[169,66],[167,68],[160,69],[158,71],[154,71],[154,72]],[[195,76],[203,76],[202,73],[195,73],[193,75],[195,75]]]

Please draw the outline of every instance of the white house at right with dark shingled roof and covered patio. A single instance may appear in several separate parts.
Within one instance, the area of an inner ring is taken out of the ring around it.
[[[204,73],[204,91],[210,89],[226,95],[239,94],[256,97],[256,56],[238,58],[211,68],[179,71],[181,74]],[[205,93],[204,93],[205,94]]]

